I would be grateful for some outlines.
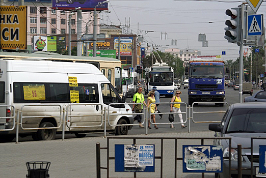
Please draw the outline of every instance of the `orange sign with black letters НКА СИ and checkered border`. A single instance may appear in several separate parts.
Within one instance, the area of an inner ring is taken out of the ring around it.
[[[26,49],[26,6],[0,6],[0,48]]]

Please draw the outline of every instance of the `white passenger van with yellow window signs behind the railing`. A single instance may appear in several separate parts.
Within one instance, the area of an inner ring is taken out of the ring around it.
[[[68,110],[68,116],[71,115],[67,117],[66,133],[84,137],[87,132],[103,132],[103,108],[108,108],[110,103],[122,103],[114,86],[91,64],[0,60],[0,67],[0,117],[10,113],[13,116],[12,108],[1,105],[13,105],[18,112],[22,108],[19,136],[32,135],[34,140],[55,139],[56,132],[62,132],[58,116],[62,114],[60,107]],[[110,113],[121,113],[110,116],[111,125],[133,123],[128,105],[113,105],[109,109]],[[13,120],[2,119],[0,124],[0,129],[11,129]],[[32,130],[40,127],[59,128]],[[131,128],[110,126],[107,123],[107,131],[116,135],[126,135]],[[0,138],[12,140],[15,130],[0,131]]]

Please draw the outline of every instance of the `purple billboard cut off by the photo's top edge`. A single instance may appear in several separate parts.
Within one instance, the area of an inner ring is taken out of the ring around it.
[[[81,10],[93,11],[95,6],[96,10],[108,10],[108,3],[98,5],[102,0],[52,0],[52,9],[59,10],[76,10],[76,8],[81,8]]]

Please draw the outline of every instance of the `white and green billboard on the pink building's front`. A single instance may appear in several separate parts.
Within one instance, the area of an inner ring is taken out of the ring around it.
[[[35,51],[56,51],[57,37],[56,36],[34,36]]]

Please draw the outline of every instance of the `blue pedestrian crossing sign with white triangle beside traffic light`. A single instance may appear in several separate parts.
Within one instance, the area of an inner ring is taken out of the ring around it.
[[[259,36],[263,34],[262,18],[262,14],[248,16],[248,36]]]

